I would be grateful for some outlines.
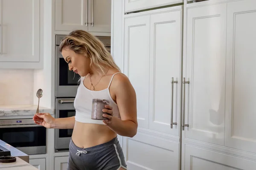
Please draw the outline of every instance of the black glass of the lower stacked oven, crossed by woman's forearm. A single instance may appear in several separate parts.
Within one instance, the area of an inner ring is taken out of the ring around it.
[[[72,117],[76,115],[76,110],[60,110],[59,115],[60,118]],[[72,133],[73,129],[60,129],[59,138],[71,137]]]

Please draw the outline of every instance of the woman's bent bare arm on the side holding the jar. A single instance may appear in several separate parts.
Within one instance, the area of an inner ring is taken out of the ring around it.
[[[111,83],[111,93],[116,96],[121,119],[111,116],[110,121],[103,121],[111,130],[121,136],[133,137],[137,133],[137,99],[128,77],[116,74]],[[106,115],[108,117],[108,115]]]

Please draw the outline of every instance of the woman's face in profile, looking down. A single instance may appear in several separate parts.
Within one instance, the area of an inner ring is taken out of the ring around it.
[[[69,70],[73,70],[81,77],[86,76],[90,72],[90,59],[84,55],[76,54],[74,51],[63,48],[61,54],[68,63]]]

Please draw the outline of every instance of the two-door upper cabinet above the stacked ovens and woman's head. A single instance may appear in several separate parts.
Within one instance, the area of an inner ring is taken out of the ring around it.
[[[55,30],[111,32],[111,0],[56,0]]]

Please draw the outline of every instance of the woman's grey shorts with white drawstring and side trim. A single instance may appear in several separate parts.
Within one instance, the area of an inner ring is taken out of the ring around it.
[[[124,154],[117,137],[93,147],[77,147],[70,140],[67,170],[119,170],[127,169]]]

